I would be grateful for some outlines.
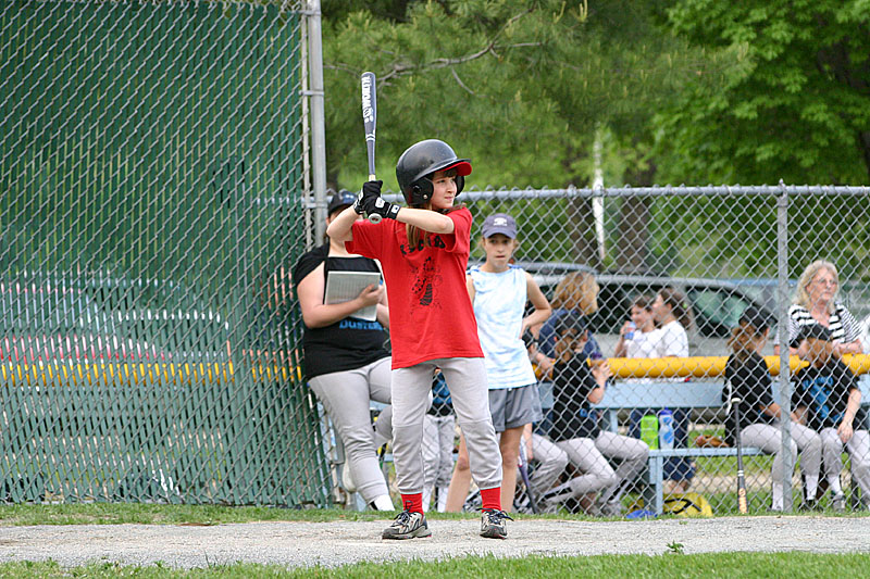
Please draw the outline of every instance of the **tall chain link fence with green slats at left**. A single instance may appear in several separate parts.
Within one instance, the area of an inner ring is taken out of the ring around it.
[[[324,505],[299,2],[0,8],[0,501]]]

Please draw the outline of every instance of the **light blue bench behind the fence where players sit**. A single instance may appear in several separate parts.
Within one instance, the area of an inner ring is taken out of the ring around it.
[[[870,375],[859,377],[861,389],[861,406],[870,410]],[[773,399],[779,399],[779,382],[773,382]],[[721,408],[722,381],[704,379],[699,381],[659,382],[650,381],[637,383],[631,381],[617,381],[605,391],[605,398],[594,405],[604,412],[605,428],[617,431],[619,427],[619,413],[621,411],[646,408]],[[870,413],[868,413],[870,421]],[[865,425],[865,428],[870,425]],[[754,446],[743,448],[744,456],[763,454]],[[656,514],[660,515],[664,506],[664,460],[670,457],[699,457],[699,456],[736,456],[734,448],[681,448],[672,450],[650,450],[647,465],[647,491],[645,500],[650,504]]]

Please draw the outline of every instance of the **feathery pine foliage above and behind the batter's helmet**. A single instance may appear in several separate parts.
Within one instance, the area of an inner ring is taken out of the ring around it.
[[[561,187],[588,182],[597,127],[649,135],[657,103],[697,66],[644,3],[327,2],[323,14],[327,173],[348,187],[364,177],[363,71],[378,78],[387,187],[401,151],[430,137],[473,159],[472,182]]]

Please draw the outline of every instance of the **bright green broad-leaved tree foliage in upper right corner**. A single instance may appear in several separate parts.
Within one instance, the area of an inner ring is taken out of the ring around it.
[[[866,184],[870,7],[863,0],[679,0],[675,34],[726,63],[656,119],[672,181]]]

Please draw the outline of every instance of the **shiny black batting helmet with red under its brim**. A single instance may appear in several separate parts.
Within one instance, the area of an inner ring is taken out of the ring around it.
[[[430,177],[436,171],[448,168],[456,168],[456,193],[459,194],[465,186],[465,175],[471,174],[471,160],[457,158],[450,146],[438,139],[426,139],[406,149],[396,163],[396,178],[408,204],[425,204],[433,191]]]

